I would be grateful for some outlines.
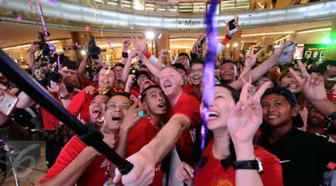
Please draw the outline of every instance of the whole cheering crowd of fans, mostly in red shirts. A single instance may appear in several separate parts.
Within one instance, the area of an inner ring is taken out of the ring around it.
[[[31,76],[83,124],[98,128],[109,147],[134,164],[130,173],[121,175],[4,76],[0,88],[19,102],[12,114],[0,113],[1,139],[46,141],[49,169],[39,185],[160,186],[171,185],[171,175],[181,185],[336,185],[336,61],[309,69],[300,61],[283,65],[287,45],[262,63],[256,63],[262,50],[239,63],[221,60],[202,144],[203,37],[172,65],[162,63],[168,50],[156,57],[138,38],[123,42],[122,63],[114,65],[86,55],[77,66],[62,56],[62,80],[49,82],[44,72],[51,67],[37,65],[40,47],[32,42]],[[232,37],[220,41],[218,54]],[[89,61],[95,68],[87,68]],[[181,163],[171,171],[174,148]]]

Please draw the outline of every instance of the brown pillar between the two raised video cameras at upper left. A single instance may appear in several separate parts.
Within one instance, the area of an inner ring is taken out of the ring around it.
[[[73,52],[75,56],[74,61],[77,63],[77,65],[79,65],[82,62],[81,50],[82,48],[88,45],[91,35],[92,33],[90,32],[79,32],[79,31],[71,32],[71,38],[73,39]],[[78,48],[76,46],[76,43],[78,46],[81,46],[81,48]]]

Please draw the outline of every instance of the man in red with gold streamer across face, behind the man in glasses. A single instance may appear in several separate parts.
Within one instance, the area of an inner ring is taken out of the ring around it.
[[[103,67],[99,71],[99,87],[95,89],[94,92],[98,92],[99,90],[107,90],[111,93],[114,92],[114,87],[116,85],[116,72],[112,69],[108,70],[108,66]],[[67,107],[68,111],[78,116],[80,114],[80,119],[84,122],[90,121],[90,113],[89,113],[89,106],[92,100],[93,95],[82,91],[78,93],[73,100],[70,102],[69,106]]]

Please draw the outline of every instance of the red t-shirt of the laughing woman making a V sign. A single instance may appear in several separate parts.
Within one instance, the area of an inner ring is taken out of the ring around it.
[[[211,139],[207,148],[203,152],[202,168],[194,179],[195,186],[216,186],[216,185],[236,185],[236,171],[233,166],[224,169],[220,160],[212,154],[214,139]],[[260,147],[254,148],[254,155],[258,156],[263,163],[263,173],[261,178],[264,186],[283,186],[282,168],[279,159]],[[204,165],[205,164],[205,165]]]

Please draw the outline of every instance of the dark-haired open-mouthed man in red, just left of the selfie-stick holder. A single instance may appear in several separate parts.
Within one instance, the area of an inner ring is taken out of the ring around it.
[[[137,104],[139,100],[135,101]],[[142,91],[141,97],[141,108],[148,109],[148,116],[139,118],[135,113],[135,120],[131,114],[131,109],[127,113],[127,118],[125,118],[125,125],[123,124],[121,130],[119,131],[119,139],[116,147],[116,152],[123,157],[128,157],[134,155],[134,153],[141,150],[145,145],[147,145],[151,139],[153,139],[162,127],[162,119],[164,119],[167,108],[166,108],[166,97],[159,88],[159,86],[151,85]],[[140,121],[139,121],[140,120]],[[127,124],[134,125],[134,127],[127,127]],[[111,166],[111,175],[114,175],[116,166]],[[161,186],[163,179],[163,172],[161,170],[161,163],[159,162],[155,166],[155,176],[152,186]]]

